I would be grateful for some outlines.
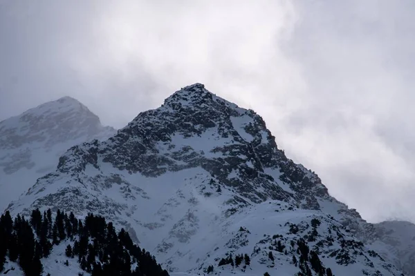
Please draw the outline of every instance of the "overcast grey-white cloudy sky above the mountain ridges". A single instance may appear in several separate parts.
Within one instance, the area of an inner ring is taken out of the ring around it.
[[[120,128],[201,82],[365,219],[415,221],[414,15],[412,0],[0,0],[0,119],[69,95]]]

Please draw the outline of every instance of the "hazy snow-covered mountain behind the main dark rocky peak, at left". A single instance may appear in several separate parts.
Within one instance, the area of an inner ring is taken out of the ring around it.
[[[115,132],[71,97],[0,121],[0,210],[26,193],[38,177],[56,170],[59,156],[68,148]]]

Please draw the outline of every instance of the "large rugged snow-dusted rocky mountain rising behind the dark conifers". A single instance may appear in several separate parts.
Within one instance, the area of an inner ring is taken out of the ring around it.
[[[277,147],[259,115],[201,83],[107,140],[71,147],[8,210],[33,208],[104,215],[173,273],[412,271],[389,250],[396,246],[386,226],[331,197],[315,173]],[[232,265],[231,256],[241,255],[249,264]]]

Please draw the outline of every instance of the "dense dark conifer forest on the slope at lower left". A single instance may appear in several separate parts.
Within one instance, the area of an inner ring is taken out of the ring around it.
[[[112,222],[104,217],[89,214],[84,221],[57,210],[53,216],[49,210],[43,214],[33,210],[30,219],[10,213],[0,218],[0,272],[6,257],[17,262],[27,276],[44,273],[41,259],[49,257],[53,246],[69,242],[68,258],[77,258],[82,270],[93,276],[154,275],[168,276],[156,259],[145,249],[133,244],[129,234],[121,229],[116,233]],[[137,264],[134,270],[131,266]],[[66,262],[68,265],[68,262]]]

